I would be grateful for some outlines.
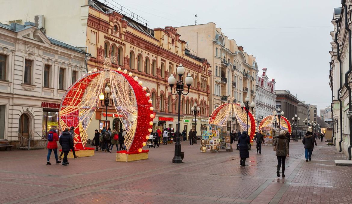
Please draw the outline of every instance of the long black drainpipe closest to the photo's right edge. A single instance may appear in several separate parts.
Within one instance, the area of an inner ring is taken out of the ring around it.
[[[345,0],[341,0],[341,4],[344,7],[344,16],[345,16],[345,29],[348,31],[348,71],[345,73],[345,84],[344,86],[347,88],[348,91],[348,111],[352,110],[351,107],[351,87],[348,84],[348,74],[350,74],[352,70],[352,53],[351,53],[351,29],[348,28],[348,22],[347,22],[347,5],[345,4]],[[352,148],[352,118],[348,118],[349,120],[349,125],[350,125],[350,145],[348,146],[348,160],[351,160],[352,155],[351,155],[351,148]]]

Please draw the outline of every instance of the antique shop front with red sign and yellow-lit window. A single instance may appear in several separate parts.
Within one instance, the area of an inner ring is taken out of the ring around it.
[[[58,130],[58,112],[60,104],[58,103],[48,103],[42,102],[40,107],[43,108],[43,121],[42,121],[42,130],[43,137],[46,137],[51,127],[55,127],[55,130]],[[26,118],[20,118],[20,127],[26,127]]]

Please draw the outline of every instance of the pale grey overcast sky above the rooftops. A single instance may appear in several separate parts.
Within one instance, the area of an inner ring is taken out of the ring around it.
[[[194,25],[195,14],[197,24],[214,22],[256,57],[259,74],[268,69],[276,89],[317,104],[318,113],[330,106],[329,32],[340,0],[115,1],[148,20],[149,28]]]

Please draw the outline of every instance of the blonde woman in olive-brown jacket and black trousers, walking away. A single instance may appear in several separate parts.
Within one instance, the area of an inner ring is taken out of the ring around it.
[[[290,156],[289,149],[288,149],[288,143],[289,140],[285,136],[286,131],[281,130],[280,135],[277,136],[274,140],[274,150],[276,151],[276,157],[277,157],[277,177],[280,177],[280,168],[282,165],[282,177],[285,177],[285,160],[286,157]]]

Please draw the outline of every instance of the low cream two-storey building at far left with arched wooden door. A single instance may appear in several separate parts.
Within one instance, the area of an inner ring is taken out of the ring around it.
[[[65,91],[87,73],[89,55],[32,22],[0,24],[0,140],[45,148]]]

